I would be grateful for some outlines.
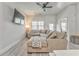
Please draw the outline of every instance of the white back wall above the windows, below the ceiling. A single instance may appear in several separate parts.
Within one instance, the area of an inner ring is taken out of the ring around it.
[[[54,15],[38,15],[34,16],[32,21],[44,21],[45,27],[48,28],[49,24],[55,24],[56,17]]]

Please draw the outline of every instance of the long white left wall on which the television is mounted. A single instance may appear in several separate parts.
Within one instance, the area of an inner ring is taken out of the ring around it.
[[[12,23],[14,9],[0,3],[0,49],[24,37],[24,27]]]

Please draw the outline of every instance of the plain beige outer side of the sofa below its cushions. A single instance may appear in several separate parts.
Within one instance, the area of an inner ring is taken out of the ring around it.
[[[50,51],[67,49],[67,40],[66,39],[48,39],[48,49]]]

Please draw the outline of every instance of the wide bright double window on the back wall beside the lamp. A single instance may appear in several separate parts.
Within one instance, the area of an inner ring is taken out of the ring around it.
[[[43,30],[44,22],[43,21],[33,21],[32,22],[32,30]]]

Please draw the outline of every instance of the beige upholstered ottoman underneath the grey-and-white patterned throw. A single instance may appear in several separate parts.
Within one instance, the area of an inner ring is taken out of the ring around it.
[[[48,45],[44,44],[41,48],[34,48],[32,47],[32,41],[29,40],[27,42],[27,52],[28,53],[38,53],[38,52],[42,52],[42,53],[48,53]]]

